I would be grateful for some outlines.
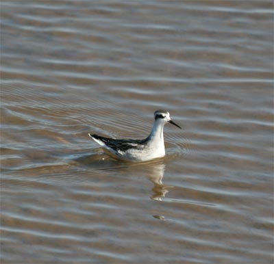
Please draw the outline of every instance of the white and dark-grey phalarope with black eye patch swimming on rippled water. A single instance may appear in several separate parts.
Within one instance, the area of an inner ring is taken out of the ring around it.
[[[154,112],[154,123],[151,133],[145,140],[116,140],[114,138],[101,137],[90,134],[95,142],[110,150],[116,157],[127,161],[149,161],[151,159],[164,157],[164,124],[169,122],[179,127],[171,120],[168,111],[157,110]],[[179,127],[179,129],[182,129]]]

